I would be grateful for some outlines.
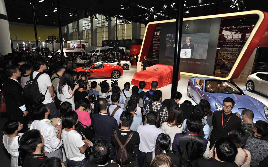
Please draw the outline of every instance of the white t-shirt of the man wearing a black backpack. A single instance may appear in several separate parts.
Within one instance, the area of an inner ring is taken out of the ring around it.
[[[39,72],[34,71],[33,78],[35,78],[38,73]],[[48,104],[48,103],[53,102],[51,98],[51,94],[48,89],[48,87],[52,85],[49,75],[47,75],[46,73],[43,73],[42,75],[39,76],[39,78],[37,79],[37,82],[38,82],[40,93],[45,95],[45,100],[43,101],[43,104]]]

